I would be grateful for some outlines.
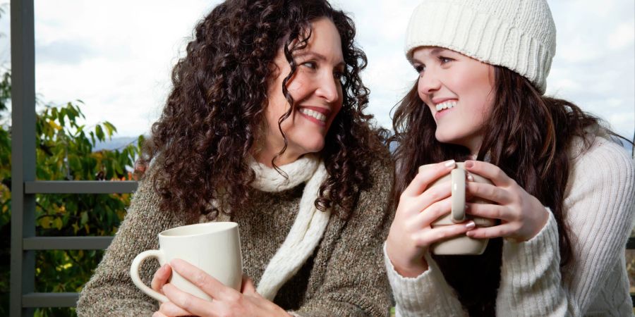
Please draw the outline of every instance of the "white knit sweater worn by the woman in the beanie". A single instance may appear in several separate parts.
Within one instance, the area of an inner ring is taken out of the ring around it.
[[[577,144],[571,151],[574,163],[564,193],[574,260],[561,276],[551,213],[531,240],[505,240],[497,316],[632,316],[624,245],[635,214],[635,164],[604,138],[580,155],[579,149]],[[430,256],[428,271],[404,278],[384,254],[397,316],[467,316]]]

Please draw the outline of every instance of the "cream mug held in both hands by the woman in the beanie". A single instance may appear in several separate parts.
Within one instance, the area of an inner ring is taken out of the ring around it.
[[[436,164],[428,164],[419,167],[419,173],[428,168],[432,168]],[[474,178],[474,182],[492,184],[487,178],[483,178],[476,174],[470,174]],[[491,227],[495,225],[495,220],[490,218],[480,218],[466,215],[465,213],[465,187],[466,187],[466,171],[464,163],[456,163],[456,168],[447,175],[443,175],[433,182],[428,188],[441,184],[451,183],[452,186],[452,211],[451,213],[439,217],[432,223],[432,227],[440,227],[442,225],[452,225],[454,223],[462,223],[466,220],[473,220],[476,227]],[[473,197],[468,202],[491,204],[490,201]],[[489,239],[473,239],[465,234],[451,237],[446,240],[434,243],[430,246],[433,254],[451,255],[451,254],[483,254],[485,248],[488,247]]]

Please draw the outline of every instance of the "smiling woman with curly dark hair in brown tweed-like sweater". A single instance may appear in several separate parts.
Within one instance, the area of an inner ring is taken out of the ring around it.
[[[363,113],[366,58],[354,36],[325,0],[228,0],[195,27],[80,316],[387,313],[392,163]],[[218,220],[238,223],[253,282],[207,285],[219,287],[213,301],[195,299],[167,283],[171,270],[198,274],[177,261],[141,272],[169,302],[136,289],[131,261],[157,249],[159,232]]]

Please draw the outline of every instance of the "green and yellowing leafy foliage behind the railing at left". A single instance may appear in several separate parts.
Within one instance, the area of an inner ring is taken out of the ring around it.
[[[11,75],[0,82],[0,107],[10,101]],[[7,93],[7,97],[4,93]],[[82,101],[44,106],[36,121],[37,180],[132,180],[128,172],[143,136],[116,150],[93,151],[116,133],[108,122],[80,124]],[[11,228],[11,127],[0,125],[0,316],[8,316]],[[36,235],[114,235],[130,204],[130,194],[40,194],[36,197]],[[36,292],[79,292],[103,251],[39,251]],[[37,309],[36,316],[73,316],[74,309]]]

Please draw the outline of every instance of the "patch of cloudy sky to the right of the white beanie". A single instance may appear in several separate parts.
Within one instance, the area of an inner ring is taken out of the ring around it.
[[[635,130],[635,2],[549,0],[557,51],[548,94],[604,118],[621,135]]]

